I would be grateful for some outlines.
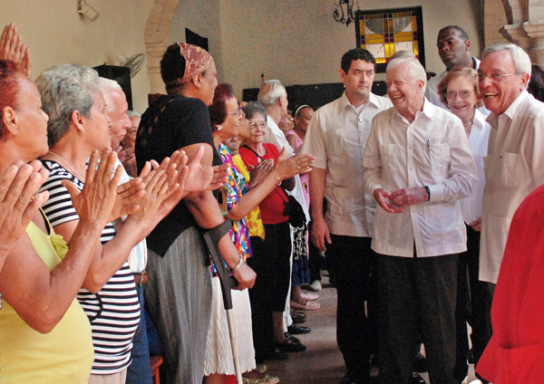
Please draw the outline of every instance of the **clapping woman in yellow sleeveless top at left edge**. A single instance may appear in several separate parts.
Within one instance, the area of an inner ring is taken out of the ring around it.
[[[14,175],[20,168],[19,181],[28,178],[18,199],[21,206],[28,204],[47,178],[40,162],[33,161],[47,153],[47,120],[34,83],[18,72],[14,62],[0,60],[0,174]],[[111,221],[121,177],[118,169],[111,179],[115,153],[104,152],[96,169],[98,158],[95,151],[87,172],[87,180],[92,182],[85,183],[81,193],[70,183],[65,186],[80,216],[69,251],[37,210],[47,199],[46,192],[34,198],[27,216],[19,217],[13,226],[0,228],[0,239],[10,233],[20,235],[0,271],[0,292],[4,295],[0,383],[73,384],[86,383],[89,378],[91,326],[75,295],[92,260],[93,246]],[[14,168],[11,165],[15,161]],[[26,163],[30,164],[23,166]],[[28,226],[22,233],[24,223]]]

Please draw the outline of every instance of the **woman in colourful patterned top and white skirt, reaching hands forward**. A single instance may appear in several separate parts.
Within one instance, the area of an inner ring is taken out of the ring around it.
[[[311,156],[299,156],[288,160],[281,158],[274,168],[271,167],[272,164],[268,164],[266,167],[270,168],[270,171],[267,176],[257,185],[251,185],[249,188],[248,180],[234,165],[230,151],[223,144],[223,141],[227,139],[238,137],[242,118],[242,110],[238,107],[238,101],[229,84],[219,84],[216,88],[213,102],[209,106],[209,117],[214,145],[223,162],[230,166],[228,181],[221,188],[219,206],[223,216],[232,220],[233,226],[229,234],[243,260],[240,261],[236,269],[243,268],[247,258],[252,255],[246,216],[277,187],[278,183],[284,179],[293,178],[298,173],[308,171],[313,158]],[[204,372],[207,375],[205,383],[207,384],[224,383],[225,375],[235,373],[232,353],[229,348],[227,317],[217,276],[212,278],[212,293],[212,312],[204,365]],[[240,369],[247,372],[256,368],[251,334],[249,294],[248,290],[232,291],[231,294]],[[266,382],[273,384],[279,380],[257,371],[251,371],[245,375],[245,381],[247,383]]]

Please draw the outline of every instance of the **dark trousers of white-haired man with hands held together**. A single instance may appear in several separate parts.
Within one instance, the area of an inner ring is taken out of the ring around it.
[[[421,330],[431,383],[456,383],[453,366],[457,254],[378,254],[377,265],[381,382],[412,383],[413,350]]]

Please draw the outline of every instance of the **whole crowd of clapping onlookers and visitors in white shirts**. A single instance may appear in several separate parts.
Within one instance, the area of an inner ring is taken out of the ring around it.
[[[446,26],[446,70],[427,81],[397,52],[386,97],[356,48],[342,96],[293,113],[281,82],[239,102],[208,52],[173,43],[140,115],[83,65],[32,82],[15,24],[0,45],[0,383],[149,384],[155,351],[166,383],[275,384],[266,360],[306,350],[323,253],[341,384],[374,365],[424,383],[422,343],[431,383],[467,383],[469,362],[539,382],[544,112],[520,47],[479,61]]]

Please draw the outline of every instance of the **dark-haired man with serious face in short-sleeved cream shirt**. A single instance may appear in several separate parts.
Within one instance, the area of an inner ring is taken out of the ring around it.
[[[370,380],[370,354],[377,350],[375,277],[371,279],[375,254],[370,248],[375,202],[364,193],[361,161],[372,119],[392,103],[371,92],[375,60],[368,51],[345,53],[339,73],[345,92],[316,110],[302,152],[316,156],[310,174],[312,241],[326,251],[336,278],[336,341],[347,370],[341,383],[360,384]]]

